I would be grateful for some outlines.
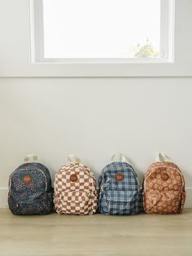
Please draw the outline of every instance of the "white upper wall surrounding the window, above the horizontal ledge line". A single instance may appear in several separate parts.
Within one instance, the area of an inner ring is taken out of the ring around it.
[[[0,0],[0,77],[192,76],[191,0],[175,1],[174,63],[172,64],[56,65],[30,62],[30,45],[33,41],[30,40],[30,31],[33,29],[29,29],[29,20],[33,15],[29,15],[29,1],[33,2],[33,0]]]

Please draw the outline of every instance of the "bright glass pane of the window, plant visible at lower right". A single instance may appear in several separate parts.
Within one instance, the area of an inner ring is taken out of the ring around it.
[[[44,0],[45,58],[158,58],[160,0]]]

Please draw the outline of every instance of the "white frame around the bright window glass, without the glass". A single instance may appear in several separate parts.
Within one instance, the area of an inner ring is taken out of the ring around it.
[[[170,64],[174,62],[175,0],[161,0],[160,57],[147,58],[45,58],[43,0],[29,0],[31,63],[35,64]]]

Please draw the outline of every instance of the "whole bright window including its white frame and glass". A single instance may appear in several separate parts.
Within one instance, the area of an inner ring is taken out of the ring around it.
[[[171,62],[169,0],[34,0],[36,62]]]

